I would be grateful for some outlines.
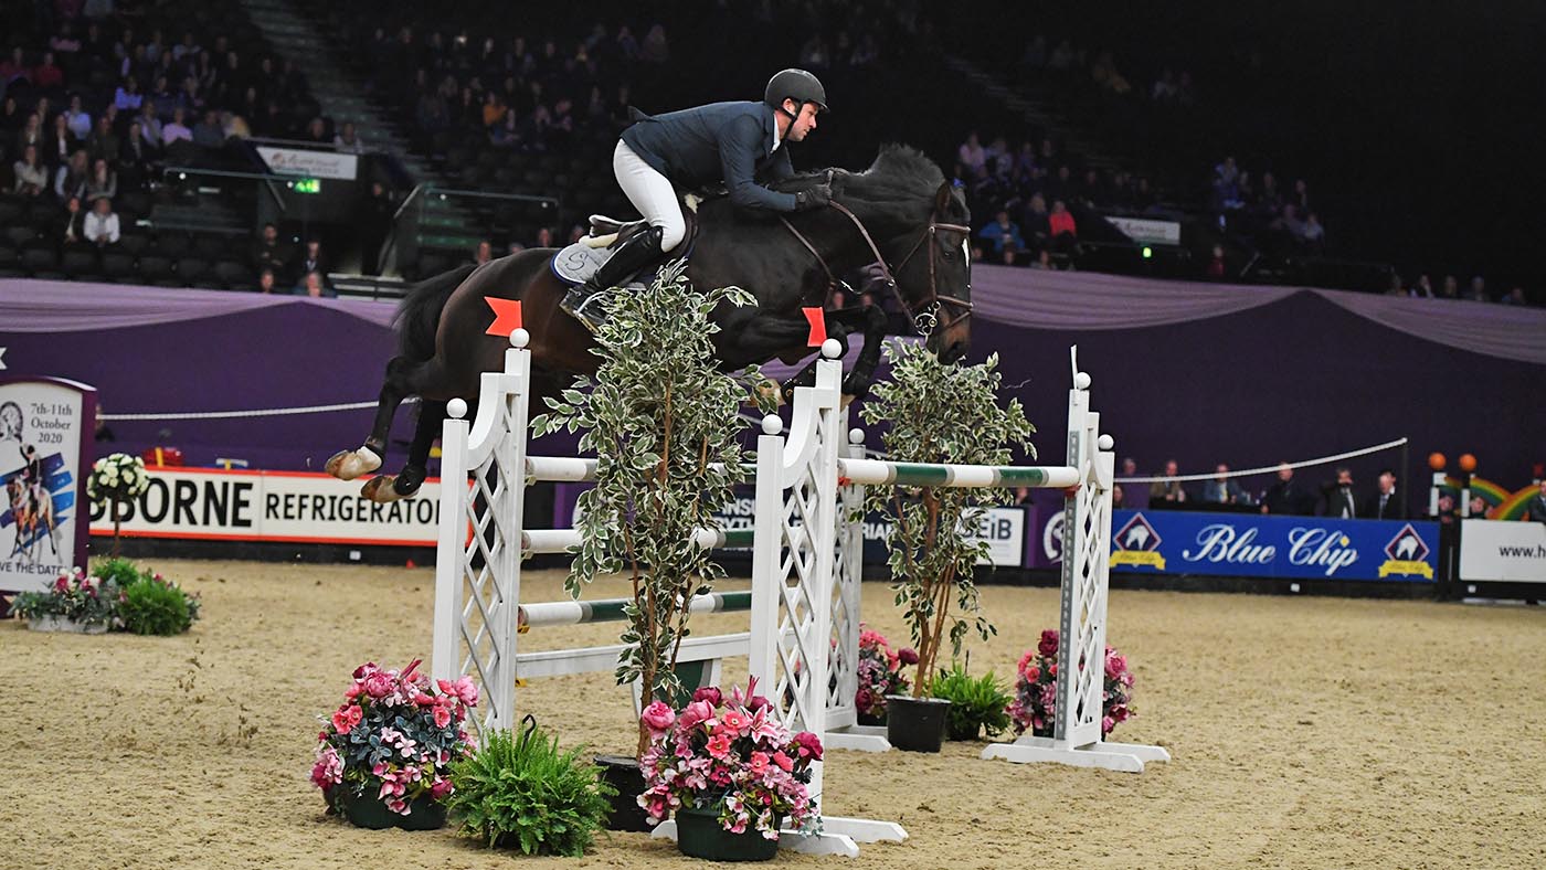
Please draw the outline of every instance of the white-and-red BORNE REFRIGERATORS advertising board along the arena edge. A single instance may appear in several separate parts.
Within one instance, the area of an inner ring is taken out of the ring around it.
[[[441,484],[425,481],[411,499],[376,504],[360,481],[303,471],[150,468],[150,487],[119,508],[125,536],[207,541],[286,541],[433,547]],[[111,535],[113,518],[91,511],[91,535]]]

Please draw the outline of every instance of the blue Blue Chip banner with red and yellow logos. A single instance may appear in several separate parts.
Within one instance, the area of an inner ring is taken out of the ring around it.
[[[1112,570],[1433,583],[1436,522],[1118,510]]]

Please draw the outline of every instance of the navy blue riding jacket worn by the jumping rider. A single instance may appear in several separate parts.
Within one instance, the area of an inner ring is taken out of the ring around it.
[[[759,178],[795,175],[788,144],[773,150],[773,107],[761,102],[716,102],[665,114],[634,111],[623,141],[656,172],[686,189],[724,182],[742,209],[793,212],[795,195],[768,190]]]

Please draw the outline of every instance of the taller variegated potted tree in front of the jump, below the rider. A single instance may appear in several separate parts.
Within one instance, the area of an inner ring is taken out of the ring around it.
[[[685,263],[669,263],[648,287],[612,294],[595,334],[595,377],[577,379],[532,420],[538,436],[581,431],[580,450],[597,454],[595,487],[577,504],[581,544],[564,589],[578,598],[598,575],[628,576],[626,651],[615,677],[618,685],[637,681],[646,703],[682,700],[676,660],[688,637],[690,603],[724,576],[696,532],[719,528],[716,511],[745,479],[739,410],[748,386],[714,363],[719,328],[710,314],[753,298],[737,287],[700,292],[685,272]],[[767,394],[754,368],[744,377]],[[597,763],[620,791],[614,827],[648,830],[635,799],[643,791],[638,757],[651,734],[634,725],[634,754],[600,756]]]

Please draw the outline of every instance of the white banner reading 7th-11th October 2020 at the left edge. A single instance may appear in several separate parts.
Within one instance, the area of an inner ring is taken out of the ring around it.
[[[46,589],[85,566],[96,389],[56,377],[0,379],[0,592]]]

